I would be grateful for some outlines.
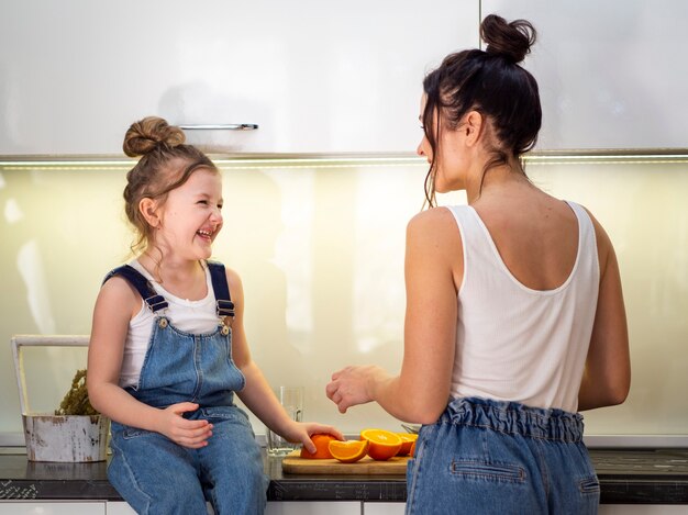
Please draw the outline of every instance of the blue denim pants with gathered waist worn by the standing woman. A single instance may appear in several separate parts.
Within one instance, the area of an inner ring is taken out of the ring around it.
[[[582,416],[457,399],[420,430],[407,514],[596,514],[600,488]]]

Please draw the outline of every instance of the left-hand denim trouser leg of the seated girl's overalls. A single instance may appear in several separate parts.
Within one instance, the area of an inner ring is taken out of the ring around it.
[[[193,455],[158,433],[124,433],[112,435],[108,479],[136,513],[204,515]]]

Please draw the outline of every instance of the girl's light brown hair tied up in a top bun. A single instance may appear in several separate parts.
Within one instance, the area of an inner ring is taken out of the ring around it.
[[[184,184],[193,171],[199,168],[218,171],[206,154],[185,141],[181,128],[157,116],[134,122],[124,135],[124,154],[141,156],[126,173],[124,188],[124,211],[137,234],[131,245],[133,254],[144,250],[153,234],[153,227],[138,210],[143,199],[154,199],[163,205],[167,194]]]

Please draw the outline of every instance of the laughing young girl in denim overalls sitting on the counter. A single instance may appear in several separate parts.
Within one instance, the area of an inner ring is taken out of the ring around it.
[[[258,514],[263,472],[234,392],[270,429],[315,450],[333,427],[289,418],[252,361],[238,276],[209,261],[222,228],[222,180],[178,127],[134,123],[126,215],[136,259],[104,279],[88,356],[90,401],[112,419],[108,477],[137,513]]]

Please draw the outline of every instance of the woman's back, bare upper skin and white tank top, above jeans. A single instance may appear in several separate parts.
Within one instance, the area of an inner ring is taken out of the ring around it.
[[[452,209],[463,273],[451,394],[573,412],[599,288],[595,227],[576,204],[514,193]]]

